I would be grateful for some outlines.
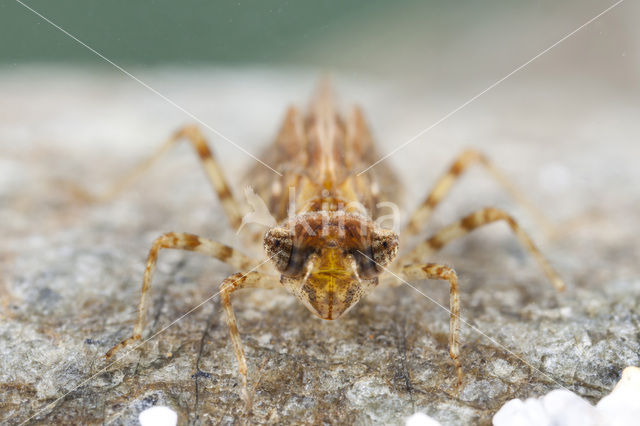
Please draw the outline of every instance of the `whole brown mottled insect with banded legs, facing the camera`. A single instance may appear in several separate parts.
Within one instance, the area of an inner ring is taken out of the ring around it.
[[[240,227],[243,217],[238,201],[196,127],[179,130],[159,153],[183,139],[197,151],[231,225]],[[455,365],[458,384],[461,384],[458,278],[449,266],[425,263],[430,254],[482,225],[505,221],[556,288],[564,288],[559,276],[516,221],[495,208],[485,208],[458,220],[396,259],[399,235],[382,228],[377,219],[381,216],[380,202],[399,201],[399,182],[384,164],[359,173],[374,163],[378,155],[360,110],[354,108],[347,117],[340,115],[328,84],[321,85],[305,115],[295,108],[289,109],[275,144],[265,151],[262,159],[280,173],[278,175],[256,165],[249,174],[249,183],[266,201],[277,223],[261,238],[269,262],[260,263],[227,245],[196,235],[162,235],[153,243],[149,253],[133,334],[114,346],[107,357],[141,339],[151,277],[160,249],[197,251],[226,262],[239,271],[222,282],[220,294],[243,382],[242,396],[247,403],[247,363],[231,306],[231,294],[237,290],[284,287],[316,316],[334,320],[381,282],[397,285],[404,279],[446,280],[450,286],[449,354]],[[151,162],[145,162],[131,176],[139,174]],[[455,160],[410,216],[403,233],[409,236],[417,234],[456,179],[472,164],[483,165],[509,192],[523,200],[482,154],[468,150]],[[110,195],[119,192],[130,181],[129,177],[125,178],[114,186]]]

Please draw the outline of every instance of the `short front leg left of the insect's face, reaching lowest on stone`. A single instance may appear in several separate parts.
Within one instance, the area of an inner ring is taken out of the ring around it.
[[[264,288],[274,289],[280,287],[280,281],[278,277],[271,275],[265,275],[260,272],[249,272],[247,274],[234,274],[226,278],[220,285],[222,304],[227,317],[227,326],[229,327],[229,334],[231,336],[231,342],[233,343],[233,350],[238,360],[238,371],[242,377],[242,399],[245,402],[247,410],[251,407],[251,395],[249,394],[249,380],[247,373],[247,359],[244,355],[244,346],[240,339],[240,333],[238,332],[238,322],[233,312],[233,306],[231,305],[231,293],[243,288]]]

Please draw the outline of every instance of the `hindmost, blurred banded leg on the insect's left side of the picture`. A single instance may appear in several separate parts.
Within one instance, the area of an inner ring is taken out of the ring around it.
[[[204,167],[207,178],[218,195],[218,199],[227,215],[231,225],[237,229],[242,221],[242,214],[238,202],[233,197],[227,180],[222,172],[222,167],[214,157],[207,141],[198,127],[195,125],[185,126],[176,131],[167,141],[162,144],[158,150],[149,158],[141,162],[137,167],[129,173],[122,176],[104,193],[92,195],[82,188],[71,185],[71,190],[80,198],[87,201],[107,201],[114,198],[122,191],[127,189],[137,178],[151,168],[172,146],[182,140],[188,140],[198,153],[198,157]]]

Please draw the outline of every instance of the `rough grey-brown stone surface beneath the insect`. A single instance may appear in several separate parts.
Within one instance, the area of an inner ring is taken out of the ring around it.
[[[285,105],[305,102],[315,76],[145,78],[259,152]],[[433,105],[450,103],[435,97],[413,107],[406,92],[384,85],[345,80],[339,87],[345,105],[355,100],[369,112],[382,151],[435,121]],[[527,87],[487,99],[390,161],[400,166],[411,206],[464,146],[485,151],[554,223],[572,222],[570,230],[545,239],[479,169],[463,178],[429,229],[485,205],[503,207],[533,234],[568,290],[554,292],[504,225],[435,256],[458,271],[464,318],[499,342],[462,326],[459,394],[448,315],[407,286],[378,289],[335,322],[315,319],[284,291],[240,294],[235,307],[250,379],[259,378],[250,421],[399,423],[422,411],[442,424],[486,423],[510,399],[561,387],[595,403],[624,367],[640,364],[637,99],[603,91],[593,95],[597,105],[560,97],[550,111],[549,99],[531,96],[523,115],[523,96],[539,93]],[[162,331],[234,272],[214,260],[162,253],[147,327],[162,333],[106,369],[101,358],[131,331],[156,236],[187,231],[241,244],[189,148],[174,150],[113,202],[82,205],[57,183],[104,188],[188,120],[115,76],[5,71],[0,91],[0,422],[136,424],[154,405],[171,407],[180,423],[246,417],[219,301]],[[251,164],[220,139],[212,145],[231,177]],[[448,303],[443,283],[414,284]]]

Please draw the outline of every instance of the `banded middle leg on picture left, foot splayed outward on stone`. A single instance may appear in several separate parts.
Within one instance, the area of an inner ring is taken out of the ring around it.
[[[111,358],[118,350],[129,345],[131,342],[140,340],[146,324],[147,308],[149,304],[149,293],[151,290],[151,279],[153,272],[156,268],[158,261],[158,253],[161,249],[177,249],[196,251],[208,256],[214,257],[222,262],[240,269],[247,270],[251,268],[256,261],[245,256],[232,247],[218,243],[213,240],[199,237],[193,234],[169,232],[158,237],[149,250],[149,256],[147,257],[147,265],[144,270],[144,278],[142,280],[142,293],[140,295],[140,302],[138,304],[138,318],[136,324],[133,327],[133,333],[131,336],[122,342],[118,343],[106,353],[107,359]]]

